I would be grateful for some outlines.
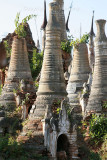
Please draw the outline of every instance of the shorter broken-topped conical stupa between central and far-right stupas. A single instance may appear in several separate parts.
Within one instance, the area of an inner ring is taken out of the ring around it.
[[[88,61],[88,49],[85,43],[80,43],[78,48],[74,48],[72,70],[68,81],[67,92],[70,101],[77,99],[77,92],[87,82],[90,73]]]

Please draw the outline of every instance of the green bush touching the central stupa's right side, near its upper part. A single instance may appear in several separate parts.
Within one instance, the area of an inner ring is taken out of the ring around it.
[[[73,41],[73,37],[69,37],[68,40],[64,40],[61,42],[61,49],[67,53],[71,53],[72,46],[70,45],[71,41]]]

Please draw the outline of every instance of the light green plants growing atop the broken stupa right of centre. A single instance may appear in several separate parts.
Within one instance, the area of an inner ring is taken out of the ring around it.
[[[89,42],[89,34],[83,34],[83,36],[81,37],[81,39],[76,39],[76,40],[73,40],[71,41],[70,45],[75,48],[78,48],[78,45],[80,43],[88,43]]]

